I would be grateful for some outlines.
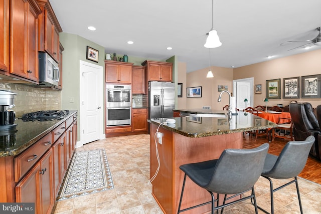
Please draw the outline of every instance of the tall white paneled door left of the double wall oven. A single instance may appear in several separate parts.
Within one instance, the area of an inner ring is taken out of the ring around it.
[[[80,140],[99,140],[103,130],[102,66],[80,61]]]

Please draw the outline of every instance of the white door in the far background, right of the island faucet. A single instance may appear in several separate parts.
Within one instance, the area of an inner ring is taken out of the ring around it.
[[[246,78],[233,80],[233,94],[236,97],[236,108],[240,111],[246,107],[253,107],[253,80],[254,78]],[[244,100],[247,99],[248,102]]]

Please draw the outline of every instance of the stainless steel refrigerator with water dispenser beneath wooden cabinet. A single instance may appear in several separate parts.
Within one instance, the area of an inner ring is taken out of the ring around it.
[[[149,118],[173,117],[175,84],[151,81],[148,83]]]

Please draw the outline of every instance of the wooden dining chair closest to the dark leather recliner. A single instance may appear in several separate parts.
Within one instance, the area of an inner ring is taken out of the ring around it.
[[[276,129],[278,129],[278,134]],[[283,136],[281,135],[281,130],[284,130]],[[286,134],[286,132],[288,132],[288,134]],[[272,129],[272,139],[274,140],[276,137],[293,140],[293,123],[291,118],[278,118],[277,127]]]

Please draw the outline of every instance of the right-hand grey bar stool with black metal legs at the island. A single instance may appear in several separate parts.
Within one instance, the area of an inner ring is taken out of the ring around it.
[[[270,182],[270,198],[271,198],[271,214],[274,213],[274,202],[273,202],[273,192],[295,182],[297,197],[300,206],[300,212],[303,213],[299,186],[297,182],[297,175],[302,171],[306,164],[307,157],[309,155],[310,148],[314,143],[315,138],[311,135],[308,136],[303,141],[289,141],[283,147],[279,156],[273,154],[267,154],[265,158],[264,167],[261,176],[268,179]],[[274,179],[289,179],[293,180],[277,187],[273,188],[273,182],[271,178]],[[252,203],[255,205],[253,200]],[[265,213],[269,213],[267,210],[260,206],[259,209]]]

